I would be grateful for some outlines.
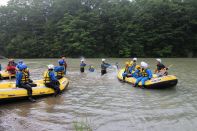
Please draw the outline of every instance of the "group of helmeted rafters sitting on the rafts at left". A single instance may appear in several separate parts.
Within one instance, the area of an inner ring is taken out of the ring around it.
[[[58,63],[58,66],[52,64],[48,65],[48,70],[44,72],[43,78],[45,86],[54,89],[55,96],[60,94],[60,83],[58,80],[64,77],[67,68],[65,57],[58,60]],[[37,85],[30,79],[30,71],[27,65],[22,60],[19,60],[18,63],[16,63],[13,59],[10,59],[6,71],[10,74],[16,75],[16,87],[26,89],[28,99],[31,102],[35,102],[35,99],[32,97],[32,87],[36,87]]]

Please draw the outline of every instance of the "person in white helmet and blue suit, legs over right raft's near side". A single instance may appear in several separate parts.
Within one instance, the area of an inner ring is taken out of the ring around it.
[[[145,62],[141,62],[141,74],[142,76],[136,79],[135,87],[138,86],[138,83],[141,81],[142,82],[142,87],[145,86],[145,82],[147,80],[150,80],[152,78],[152,72],[148,68],[148,64]]]

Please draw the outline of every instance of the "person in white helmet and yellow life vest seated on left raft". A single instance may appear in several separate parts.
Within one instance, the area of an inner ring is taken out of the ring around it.
[[[54,95],[57,96],[58,94],[60,94],[60,83],[55,77],[53,70],[54,65],[48,65],[48,70],[44,72],[44,84],[46,87],[54,89]]]

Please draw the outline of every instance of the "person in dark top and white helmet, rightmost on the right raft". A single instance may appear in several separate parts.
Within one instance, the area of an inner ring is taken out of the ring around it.
[[[157,61],[157,69],[155,70],[155,74],[157,74],[158,77],[161,77],[163,75],[168,75],[168,68],[164,64],[162,64],[161,59],[156,59]]]

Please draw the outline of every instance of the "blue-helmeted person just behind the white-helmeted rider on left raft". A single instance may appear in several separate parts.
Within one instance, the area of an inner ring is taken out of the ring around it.
[[[56,72],[56,78],[57,79],[61,79],[62,77],[64,77],[64,75],[65,75],[65,68],[64,68],[64,61],[62,60],[62,59],[60,59],[59,61],[58,61],[58,63],[59,63],[59,66],[56,66],[55,68],[54,68],[54,71]]]

